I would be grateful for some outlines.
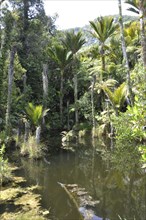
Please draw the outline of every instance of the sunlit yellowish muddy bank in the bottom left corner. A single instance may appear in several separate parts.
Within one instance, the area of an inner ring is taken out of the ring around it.
[[[41,207],[38,186],[28,186],[23,177],[17,176],[18,167],[11,164],[11,181],[0,188],[1,220],[45,220],[49,210]]]

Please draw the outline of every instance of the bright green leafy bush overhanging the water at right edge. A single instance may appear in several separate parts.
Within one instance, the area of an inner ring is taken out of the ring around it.
[[[135,98],[133,107],[128,106],[125,113],[113,118],[116,133],[116,143],[120,145],[141,142],[145,137],[142,127],[145,125],[144,103]]]

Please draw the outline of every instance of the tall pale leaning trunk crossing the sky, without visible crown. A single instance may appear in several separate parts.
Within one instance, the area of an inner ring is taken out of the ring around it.
[[[122,51],[123,51],[123,58],[124,58],[124,63],[125,63],[126,71],[127,71],[127,87],[128,87],[130,102],[133,105],[133,94],[132,94],[132,87],[131,87],[129,61],[128,61],[128,56],[126,52],[126,43],[125,43],[125,37],[124,37],[121,0],[118,0],[118,6],[119,6],[119,24],[120,24],[120,30],[121,30]]]

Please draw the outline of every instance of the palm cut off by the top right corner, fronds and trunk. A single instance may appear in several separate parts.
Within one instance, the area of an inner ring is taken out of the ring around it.
[[[131,6],[130,8],[128,8],[129,11],[139,14],[140,16],[140,31],[141,31],[143,65],[146,70],[146,33],[145,33],[145,24],[144,24],[144,18],[146,17],[146,1],[145,0],[126,0],[125,3]]]

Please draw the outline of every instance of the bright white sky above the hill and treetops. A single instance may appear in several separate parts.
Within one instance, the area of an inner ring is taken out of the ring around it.
[[[58,29],[82,27],[99,16],[118,14],[118,0],[44,0],[47,15],[59,15]],[[134,15],[126,10],[128,5],[122,0],[123,15]]]

